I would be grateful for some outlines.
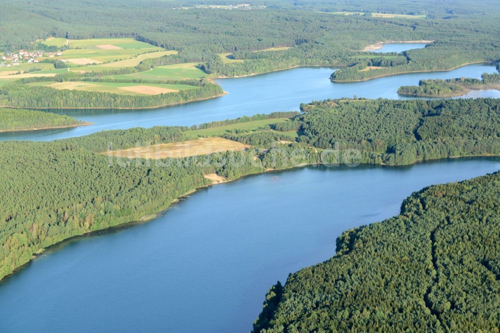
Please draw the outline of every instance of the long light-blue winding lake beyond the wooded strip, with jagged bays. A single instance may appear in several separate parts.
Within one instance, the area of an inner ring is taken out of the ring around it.
[[[301,67],[241,78],[218,79],[217,82],[228,92],[224,96],[157,109],[65,110],[62,113],[94,124],[68,129],[0,133],[0,140],[53,140],[87,135],[105,129],[193,125],[255,113],[298,110],[301,102],[314,99],[354,95],[407,99],[409,97],[397,94],[400,85],[416,85],[420,79],[428,78],[480,78],[483,72],[496,72],[494,66],[471,64],[450,71],[409,73],[363,82],[335,83],[329,80],[333,70],[324,67]]]

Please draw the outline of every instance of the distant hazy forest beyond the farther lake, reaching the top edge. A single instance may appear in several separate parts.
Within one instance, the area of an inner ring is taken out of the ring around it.
[[[224,1],[222,1],[224,2]],[[201,62],[216,76],[260,73],[298,65],[345,66],[332,74],[334,80],[362,80],[381,75],[419,70],[442,70],[469,62],[500,59],[495,22],[495,1],[480,7],[468,1],[393,1],[387,7],[363,1],[362,11],[422,14],[425,17],[374,17],[334,15],[335,11],[359,11],[360,3],[345,1],[252,2],[260,9],[194,7],[180,1],[113,1],[81,3],[65,1],[63,8],[50,1],[15,2],[0,14],[2,49],[32,48],[32,41],[47,37],[72,39],[134,37],[179,51],[163,63]],[[179,9],[179,8],[187,9]],[[26,17],[18,26],[12,17]],[[126,21],[126,27],[123,27]],[[68,22],[71,22],[70,24]],[[102,22],[106,22],[105,26]],[[228,28],[230,27],[230,33]],[[379,41],[435,40],[423,49],[402,54],[360,52]],[[254,52],[286,46],[267,52]],[[231,53],[236,62],[224,62],[217,53]],[[381,68],[362,71],[366,66]],[[130,67],[131,68],[131,67]],[[130,70],[130,69],[127,69]],[[132,69],[137,70],[137,69]],[[144,70],[144,69],[142,69]]]

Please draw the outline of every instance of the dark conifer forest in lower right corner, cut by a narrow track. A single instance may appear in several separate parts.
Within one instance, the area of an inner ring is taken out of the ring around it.
[[[253,331],[497,331],[499,198],[500,173],[413,193],[274,285]]]

